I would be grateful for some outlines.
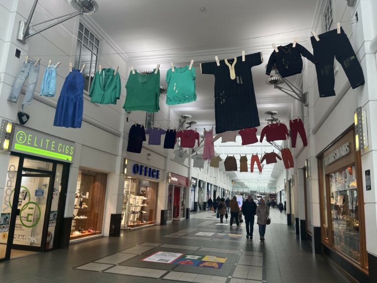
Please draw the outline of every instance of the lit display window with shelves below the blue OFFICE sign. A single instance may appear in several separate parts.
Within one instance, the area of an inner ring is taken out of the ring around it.
[[[157,188],[157,182],[126,178],[122,213],[123,228],[156,224]]]

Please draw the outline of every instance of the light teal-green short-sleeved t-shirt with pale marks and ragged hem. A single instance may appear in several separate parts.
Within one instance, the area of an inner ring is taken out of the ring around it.
[[[175,105],[195,101],[195,68],[192,67],[189,70],[186,66],[174,68],[174,70],[175,72],[169,69],[166,73],[166,104]]]

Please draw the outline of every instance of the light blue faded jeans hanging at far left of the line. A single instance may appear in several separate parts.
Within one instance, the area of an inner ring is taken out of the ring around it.
[[[16,81],[14,81],[12,90],[9,94],[8,101],[17,102],[22,86],[24,85],[27,77],[29,77],[27,90],[26,90],[24,102],[22,103],[22,105],[31,103],[34,96],[35,85],[37,84],[37,81],[38,81],[39,66],[40,66],[39,63],[36,66],[34,66],[34,63],[35,61],[27,60],[26,63],[24,62],[22,64],[20,73],[18,74]]]

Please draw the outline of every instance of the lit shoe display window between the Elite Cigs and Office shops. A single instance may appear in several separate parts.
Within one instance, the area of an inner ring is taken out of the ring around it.
[[[102,234],[106,173],[79,170],[71,240]]]

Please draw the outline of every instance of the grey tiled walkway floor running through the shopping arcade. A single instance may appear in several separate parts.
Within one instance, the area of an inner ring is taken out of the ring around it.
[[[294,228],[286,225],[286,216],[278,210],[271,211],[273,222],[267,228],[265,243],[259,241],[256,225],[254,239],[246,239],[243,225],[216,225],[213,212],[192,216],[167,226],[124,230],[119,238],[100,238],[69,249],[0,262],[0,282],[348,282],[327,257],[313,255],[309,243],[296,238]],[[226,260],[221,268],[143,261],[158,252]]]

